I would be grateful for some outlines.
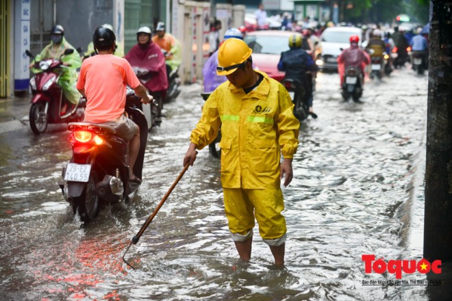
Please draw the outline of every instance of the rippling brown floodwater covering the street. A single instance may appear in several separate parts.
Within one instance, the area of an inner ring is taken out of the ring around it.
[[[71,157],[64,127],[36,137],[0,133],[0,300],[428,300],[425,285],[366,274],[362,254],[422,258],[427,75],[394,70],[342,101],[337,74],[320,73],[318,119],[303,122],[294,180],[283,188],[286,267],[255,228],[251,263],[238,260],[223,209],[220,162],[205,148],[142,235],[121,257],[181,172],[201,116],[201,86],[184,86],[147,142],[131,203],[83,226],[59,183]],[[423,280],[425,274],[404,274]]]

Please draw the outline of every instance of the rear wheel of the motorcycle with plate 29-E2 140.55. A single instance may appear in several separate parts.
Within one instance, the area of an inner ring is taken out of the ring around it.
[[[99,213],[99,196],[96,193],[96,184],[99,182],[97,173],[92,171],[90,179],[86,183],[81,196],[74,198],[73,211],[79,211],[80,220],[89,222]]]

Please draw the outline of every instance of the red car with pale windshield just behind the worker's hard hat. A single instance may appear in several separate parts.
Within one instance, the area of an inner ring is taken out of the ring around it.
[[[253,50],[254,66],[277,81],[284,79],[285,73],[278,70],[278,63],[281,53],[289,50],[289,37],[292,34],[293,31],[284,30],[248,32],[244,41]]]

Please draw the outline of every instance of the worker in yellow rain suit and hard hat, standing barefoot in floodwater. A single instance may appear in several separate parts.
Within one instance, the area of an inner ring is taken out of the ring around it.
[[[228,79],[203,106],[190,135],[184,166],[192,165],[201,149],[216,138],[221,125],[221,184],[229,231],[240,259],[251,259],[255,219],[275,264],[284,265],[286,220],[281,214],[284,186],[292,181],[299,121],[290,96],[278,81],[253,70],[252,50],[236,38],[218,50],[218,75]],[[281,153],[284,157],[280,163]]]

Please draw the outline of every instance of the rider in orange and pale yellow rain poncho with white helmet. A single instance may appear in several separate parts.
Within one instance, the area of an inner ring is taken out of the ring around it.
[[[157,23],[157,27],[155,27],[155,36],[152,37],[152,42],[158,44],[162,50],[166,51],[166,74],[169,76],[171,70],[174,70],[174,68],[181,64],[180,44],[173,35],[166,32],[165,23],[163,22]]]

